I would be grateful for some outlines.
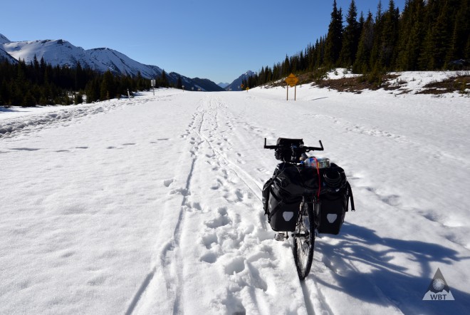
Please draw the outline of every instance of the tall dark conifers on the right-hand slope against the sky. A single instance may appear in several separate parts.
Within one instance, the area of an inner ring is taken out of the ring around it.
[[[343,11],[333,1],[328,33],[294,56],[262,67],[244,81],[252,88],[288,76],[312,72],[321,78],[331,68],[373,76],[387,71],[437,71],[470,61],[470,0],[407,0],[402,12],[390,0],[386,9],[357,18],[351,0]]]

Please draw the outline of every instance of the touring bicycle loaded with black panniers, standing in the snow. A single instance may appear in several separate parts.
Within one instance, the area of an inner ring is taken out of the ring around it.
[[[271,228],[278,232],[276,240],[293,239],[293,257],[298,277],[303,280],[310,272],[315,237],[318,233],[338,234],[348,211],[355,211],[351,186],[345,171],[328,158],[308,156],[303,139],[278,138],[274,150],[277,160],[273,177],[263,186],[263,207]]]

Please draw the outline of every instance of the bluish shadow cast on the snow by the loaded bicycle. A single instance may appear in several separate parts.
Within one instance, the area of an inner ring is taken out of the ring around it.
[[[350,223],[343,225],[338,236],[328,237],[340,242],[329,244],[320,234],[318,242],[315,242],[315,252],[322,254],[323,263],[333,271],[330,274],[337,284],[325,282],[315,277],[315,272],[310,272],[309,277],[318,284],[372,304],[395,305],[404,314],[468,314],[470,294],[454,289],[452,283],[461,279],[447,278],[445,270],[453,268],[452,262],[470,257],[459,257],[454,249],[439,244],[382,238],[372,229]],[[406,254],[407,259],[419,264],[420,276],[409,274],[406,265],[392,262],[394,253],[399,253],[400,258]],[[360,273],[349,262],[365,264],[370,267],[370,272]],[[437,267],[431,267],[431,263],[441,269],[455,301],[422,301],[437,271]]]

